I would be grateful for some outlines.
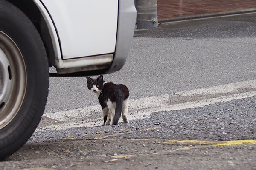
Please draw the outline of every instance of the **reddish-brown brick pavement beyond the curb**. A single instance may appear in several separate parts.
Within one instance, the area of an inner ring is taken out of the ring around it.
[[[158,0],[158,18],[256,8],[256,0]]]

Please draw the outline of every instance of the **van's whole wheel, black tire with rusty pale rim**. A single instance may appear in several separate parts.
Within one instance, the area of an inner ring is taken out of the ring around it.
[[[0,0],[0,160],[25,144],[40,122],[49,87],[47,63],[35,26]]]

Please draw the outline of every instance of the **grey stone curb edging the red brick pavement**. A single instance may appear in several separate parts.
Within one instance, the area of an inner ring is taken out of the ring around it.
[[[179,21],[186,21],[186,20],[200,20],[200,19],[211,18],[211,17],[226,17],[230,15],[250,14],[254,12],[256,12],[256,8],[214,12],[214,13],[206,13],[206,14],[183,15],[183,16],[177,16],[177,17],[166,17],[166,18],[158,18],[158,24],[172,23],[172,22],[179,22]]]

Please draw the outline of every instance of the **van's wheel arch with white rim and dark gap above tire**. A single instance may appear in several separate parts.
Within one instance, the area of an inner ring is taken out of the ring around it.
[[[61,58],[58,34],[52,20],[40,0],[6,0],[12,3],[32,21],[47,51],[49,66],[55,65],[55,59]],[[46,16],[48,15],[48,16]]]

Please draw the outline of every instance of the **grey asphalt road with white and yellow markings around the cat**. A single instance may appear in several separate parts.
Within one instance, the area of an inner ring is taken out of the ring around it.
[[[85,77],[51,77],[45,113],[3,170],[255,169],[256,15],[135,31],[129,124],[100,126]],[[53,71],[53,69],[51,69]]]

